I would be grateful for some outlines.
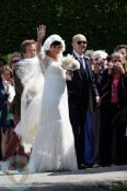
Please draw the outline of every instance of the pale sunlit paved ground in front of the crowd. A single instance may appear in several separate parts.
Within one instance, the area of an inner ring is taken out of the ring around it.
[[[127,183],[127,166],[88,168],[78,171],[24,175],[0,171],[0,191],[108,191],[113,186]]]

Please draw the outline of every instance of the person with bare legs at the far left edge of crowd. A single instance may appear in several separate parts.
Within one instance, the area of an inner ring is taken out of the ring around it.
[[[12,136],[12,131],[14,128],[13,115],[11,112],[11,104],[15,96],[15,91],[11,77],[12,70],[8,65],[3,67],[0,81],[0,127],[2,136],[1,151],[3,158],[7,145]]]

